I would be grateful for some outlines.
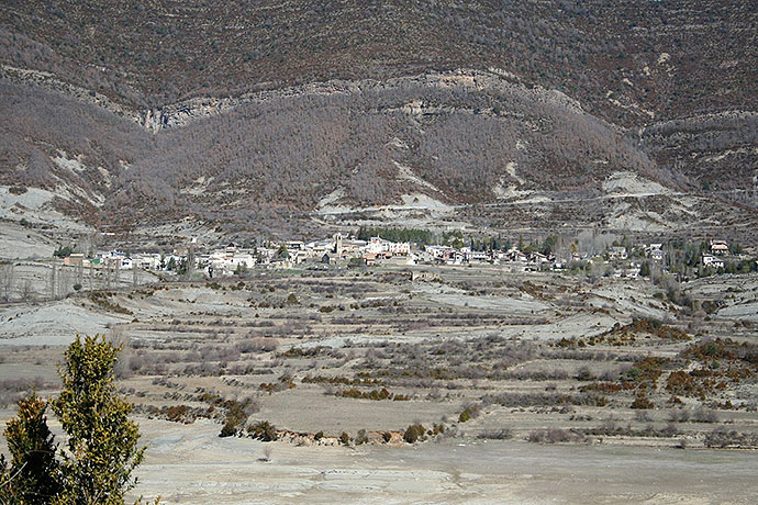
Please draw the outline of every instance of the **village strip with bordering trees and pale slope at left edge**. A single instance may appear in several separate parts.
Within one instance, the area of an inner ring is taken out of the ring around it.
[[[388,238],[384,238],[388,237]],[[404,239],[403,239],[404,238]],[[590,280],[647,279],[664,285],[723,273],[758,271],[753,250],[724,239],[682,240],[625,236],[566,238],[558,235],[513,242],[460,232],[433,235],[406,228],[361,228],[315,240],[258,238],[244,244],[190,237],[180,244],[130,250],[110,237],[98,246],[81,239],[59,246],[53,257],[0,263],[0,299],[59,300],[93,292],[171,281],[243,279],[265,271],[410,270],[430,274],[477,267],[522,276],[576,274]],[[170,243],[169,243],[170,244]],[[103,247],[104,246],[104,247]],[[114,247],[115,246],[115,247]],[[749,254],[748,254],[749,252]],[[670,283],[670,282],[669,282]]]

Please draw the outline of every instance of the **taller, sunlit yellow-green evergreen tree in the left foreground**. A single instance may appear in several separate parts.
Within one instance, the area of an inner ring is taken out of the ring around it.
[[[113,366],[120,350],[104,336],[82,340],[77,335],[66,351],[63,390],[52,402],[69,436],[56,504],[123,505],[124,494],[136,485],[132,471],[144,448],[137,448],[137,424],[129,420],[132,405],[115,390]]]

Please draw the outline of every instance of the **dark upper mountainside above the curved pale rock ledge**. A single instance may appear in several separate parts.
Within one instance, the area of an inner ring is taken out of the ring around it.
[[[0,47],[138,108],[498,67],[633,123],[635,103],[666,119],[755,109],[757,15],[750,0],[7,0]]]

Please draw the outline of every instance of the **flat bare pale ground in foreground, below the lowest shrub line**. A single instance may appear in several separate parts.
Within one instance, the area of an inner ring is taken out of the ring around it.
[[[526,442],[296,447],[143,420],[135,492],[167,504],[753,504],[755,452]]]

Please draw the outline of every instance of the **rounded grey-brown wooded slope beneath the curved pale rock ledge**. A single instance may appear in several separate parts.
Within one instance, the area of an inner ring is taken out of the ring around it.
[[[471,203],[499,186],[592,191],[612,170],[655,177],[634,138],[566,97],[476,72],[269,98],[157,135],[44,90],[2,90],[4,183],[78,187],[82,203],[102,198],[133,218],[272,217],[335,190],[358,205],[413,191]]]

